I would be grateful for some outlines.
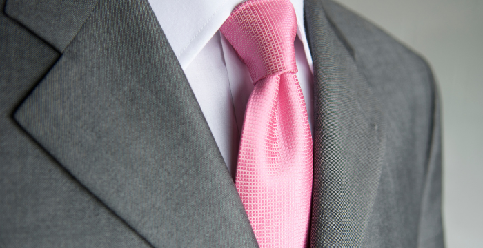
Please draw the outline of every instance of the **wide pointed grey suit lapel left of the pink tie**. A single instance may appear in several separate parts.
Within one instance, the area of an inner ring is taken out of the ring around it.
[[[72,38],[19,124],[151,245],[257,247],[148,2],[101,0]]]

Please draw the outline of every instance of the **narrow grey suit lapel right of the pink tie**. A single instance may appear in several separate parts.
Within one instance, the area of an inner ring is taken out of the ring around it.
[[[311,247],[360,247],[379,186],[384,116],[324,4],[304,8],[314,61]]]

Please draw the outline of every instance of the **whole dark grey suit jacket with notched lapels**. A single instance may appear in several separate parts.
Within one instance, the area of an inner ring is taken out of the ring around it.
[[[257,247],[146,0],[8,0],[0,247]],[[431,70],[374,25],[305,3],[311,247],[443,247]]]

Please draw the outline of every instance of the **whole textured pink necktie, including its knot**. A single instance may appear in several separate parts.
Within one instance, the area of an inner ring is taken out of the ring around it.
[[[295,10],[250,0],[221,26],[255,87],[246,106],[235,185],[260,247],[306,247],[312,136],[297,80]]]

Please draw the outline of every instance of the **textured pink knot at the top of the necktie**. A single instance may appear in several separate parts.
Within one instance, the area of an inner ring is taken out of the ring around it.
[[[297,72],[293,46],[297,19],[289,0],[246,1],[220,30],[248,67],[254,84],[273,74]]]

